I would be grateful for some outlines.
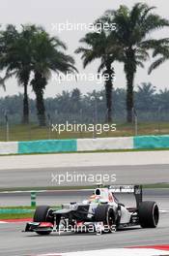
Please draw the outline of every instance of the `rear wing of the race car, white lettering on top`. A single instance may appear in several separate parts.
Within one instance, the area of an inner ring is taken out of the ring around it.
[[[111,193],[129,193],[135,196],[136,206],[140,205],[143,201],[143,189],[142,185],[110,185],[109,191]]]

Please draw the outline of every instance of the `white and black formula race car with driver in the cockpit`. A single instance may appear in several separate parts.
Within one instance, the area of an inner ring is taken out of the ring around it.
[[[125,207],[116,198],[118,193],[132,193],[136,207]],[[136,225],[155,228],[158,219],[156,203],[142,200],[141,185],[110,185],[96,188],[94,194],[82,203],[65,204],[61,209],[38,207],[33,222],[26,224],[25,232],[39,235],[49,235],[52,231],[102,234]]]

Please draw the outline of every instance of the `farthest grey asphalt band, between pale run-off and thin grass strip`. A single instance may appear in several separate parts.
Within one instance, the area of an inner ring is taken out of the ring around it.
[[[123,159],[122,159],[123,161]],[[142,166],[93,166],[93,167],[60,167],[0,170],[0,188],[30,187],[30,186],[57,186],[58,181],[52,176],[64,175],[116,175],[116,183],[169,183],[169,165],[142,165]],[[97,178],[96,178],[97,179]],[[88,180],[87,180],[88,181]],[[96,182],[97,183],[97,180]],[[99,180],[98,180],[99,183]],[[110,182],[108,182],[110,183]],[[92,182],[79,182],[78,185],[91,185]],[[77,182],[67,180],[60,185],[77,185]]]

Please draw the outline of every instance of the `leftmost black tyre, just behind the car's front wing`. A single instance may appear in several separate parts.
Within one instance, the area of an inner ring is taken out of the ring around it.
[[[41,206],[36,208],[33,221],[34,222],[51,222],[53,223],[53,219],[49,215],[50,208],[48,206]],[[37,231],[39,235],[49,235],[51,231]]]

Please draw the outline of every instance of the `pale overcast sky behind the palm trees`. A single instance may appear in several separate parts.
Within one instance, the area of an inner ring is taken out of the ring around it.
[[[80,74],[86,74],[86,78],[89,78],[90,74],[97,76],[97,69],[99,61],[95,61],[90,64],[85,70],[82,66],[80,54],[75,54],[74,50],[80,45],[79,40],[89,30],[73,29],[58,31],[59,24],[66,26],[69,22],[76,25],[77,23],[85,23],[88,26],[90,23],[96,20],[99,16],[102,16],[106,10],[118,9],[120,5],[127,5],[129,8],[138,1],[133,0],[0,0],[1,18],[0,23],[4,28],[7,24],[13,23],[17,27],[20,24],[35,23],[42,25],[46,31],[52,36],[58,36],[64,41],[68,50],[67,53],[72,55],[75,59],[75,66]],[[144,1],[149,6],[155,6],[154,11],[160,16],[169,18],[169,2],[166,0],[147,0]],[[155,31],[150,35],[151,38],[165,38],[169,37],[169,29],[161,29]],[[138,68],[136,77],[134,80],[135,89],[141,82],[152,82],[156,89],[164,89],[169,87],[168,72],[169,62],[162,64],[156,69],[152,75],[148,75],[147,71],[152,63],[149,60],[145,63],[145,68]],[[126,77],[123,69],[123,64],[115,63],[116,80],[114,82],[115,88],[126,87]],[[0,74],[3,77],[3,74]],[[0,87],[0,97],[8,95],[18,94],[23,92],[23,88],[17,85],[15,79],[10,79],[6,82],[6,91]],[[44,97],[55,97],[55,95],[62,93],[62,90],[72,90],[78,87],[82,93],[87,93],[94,89],[100,90],[103,88],[103,83],[97,80],[70,80],[59,81],[55,76],[48,81],[46,86]],[[35,98],[32,92],[31,86],[29,86],[29,97]]]

